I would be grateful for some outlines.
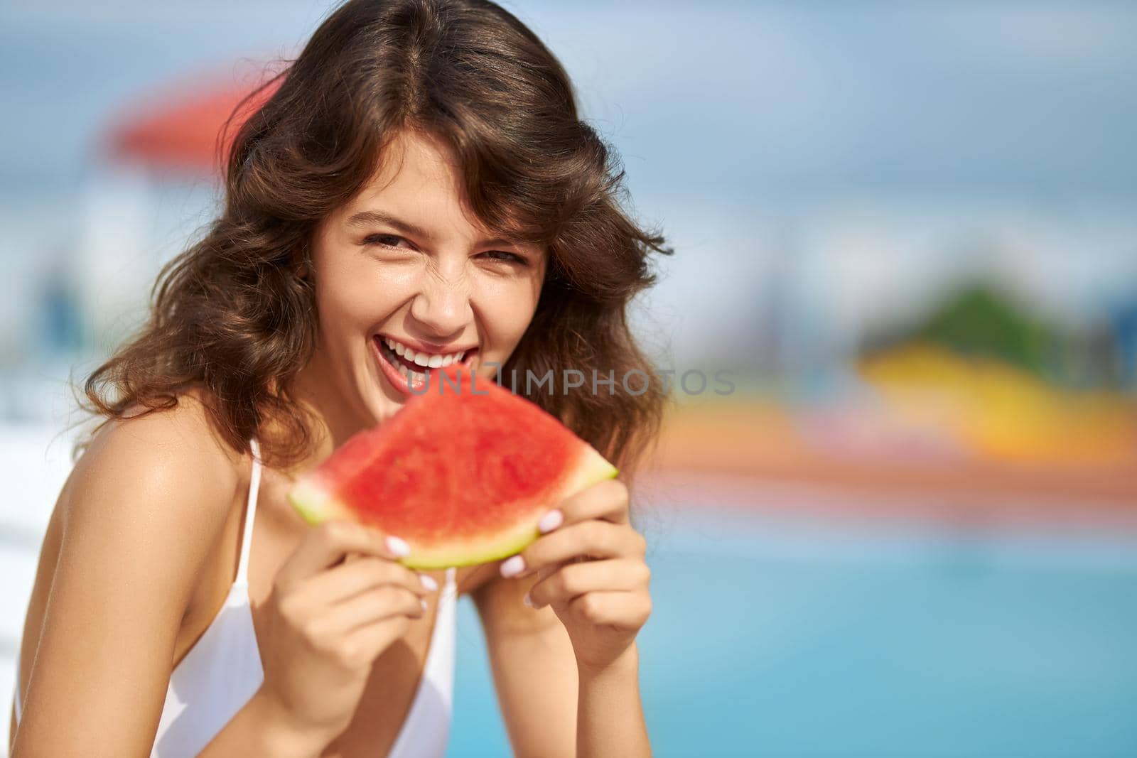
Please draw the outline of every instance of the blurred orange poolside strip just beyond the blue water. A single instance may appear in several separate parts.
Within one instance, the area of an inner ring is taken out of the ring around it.
[[[943,409],[914,417],[893,402],[795,409],[761,397],[694,401],[669,415],[645,474],[653,488],[697,492],[700,502],[770,502],[748,494],[790,486],[821,494],[806,498],[807,507],[858,518],[1137,526],[1132,405],[1071,416],[1064,427],[1014,420],[1018,447],[1007,430],[969,438],[970,427],[953,425]]]

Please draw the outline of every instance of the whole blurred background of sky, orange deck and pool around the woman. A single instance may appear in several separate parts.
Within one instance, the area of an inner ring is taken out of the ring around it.
[[[1137,755],[1137,6],[505,3],[674,244],[659,756]],[[0,707],[82,382],[331,3],[0,5]],[[3,741],[7,744],[7,740]],[[507,755],[472,606],[450,753]]]

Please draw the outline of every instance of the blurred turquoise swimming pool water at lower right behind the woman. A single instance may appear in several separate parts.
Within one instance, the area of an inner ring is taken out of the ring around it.
[[[655,755],[1137,756],[1137,535],[650,515]],[[459,611],[449,753],[507,756]]]

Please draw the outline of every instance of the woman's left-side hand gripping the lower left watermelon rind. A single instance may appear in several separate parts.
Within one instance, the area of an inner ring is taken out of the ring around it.
[[[267,600],[260,697],[293,731],[335,739],[372,661],[422,617],[431,576],[397,559],[406,543],[347,520],[315,527],[284,561]]]

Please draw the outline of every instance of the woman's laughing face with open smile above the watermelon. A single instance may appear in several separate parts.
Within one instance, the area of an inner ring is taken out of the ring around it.
[[[548,263],[539,245],[491,240],[467,217],[441,143],[404,132],[387,155],[313,239],[319,335],[305,372],[340,424],[389,418],[412,386],[422,393],[423,364],[459,360],[492,378],[533,317]]]

